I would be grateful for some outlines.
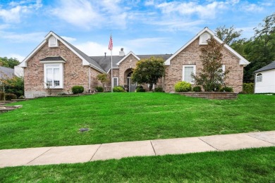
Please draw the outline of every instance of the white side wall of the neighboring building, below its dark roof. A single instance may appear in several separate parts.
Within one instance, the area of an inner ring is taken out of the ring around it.
[[[262,74],[262,82],[255,82],[255,94],[275,93],[275,69],[257,72],[255,76],[259,73]]]

